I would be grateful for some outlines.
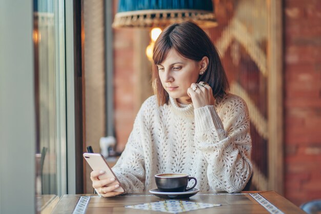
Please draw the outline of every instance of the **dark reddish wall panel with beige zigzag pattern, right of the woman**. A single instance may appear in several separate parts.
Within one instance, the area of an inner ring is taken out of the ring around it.
[[[266,190],[269,178],[268,3],[266,0],[214,2],[219,27],[208,32],[222,57],[230,92],[241,96],[249,108],[252,189]]]

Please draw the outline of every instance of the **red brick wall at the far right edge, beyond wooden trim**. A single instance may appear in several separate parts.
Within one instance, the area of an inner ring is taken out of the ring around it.
[[[321,1],[284,2],[285,197],[321,199]]]

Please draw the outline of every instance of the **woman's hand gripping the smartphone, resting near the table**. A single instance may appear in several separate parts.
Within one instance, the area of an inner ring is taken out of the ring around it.
[[[97,193],[101,194],[103,197],[112,197],[122,194],[123,192],[113,191],[119,187],[117,181],[114,178],[107,178],[99,180],[99,176],[104,174],[105,171],[94,170],[90,173],[90,179],[92,181],[92,187],[96,189]]]

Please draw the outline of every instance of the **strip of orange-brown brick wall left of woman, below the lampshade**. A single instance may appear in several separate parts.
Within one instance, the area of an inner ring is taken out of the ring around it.
[[[114,31],[114,119],[117,150],[122,151],[136,116],[133,29]]]

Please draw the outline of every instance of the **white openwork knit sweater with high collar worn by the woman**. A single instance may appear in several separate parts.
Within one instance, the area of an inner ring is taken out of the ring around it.
[[[156,188],[154,175],[187,173],[201,191],[241,191],[252,174],[250,120],[244,100],[233,94],[215,106],[157,105],[151,96],[139,110],[116,165],[126,192]]]

